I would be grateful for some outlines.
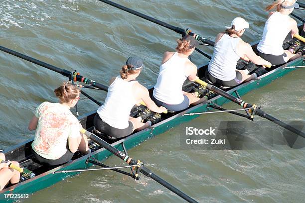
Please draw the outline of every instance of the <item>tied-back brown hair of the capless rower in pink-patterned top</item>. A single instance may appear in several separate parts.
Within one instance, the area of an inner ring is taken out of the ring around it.
[[[64,82],[62,86],[54,90],[54,93],[60,102],[68,103],[79,96],[80,90],[76,86],[68,82]]]

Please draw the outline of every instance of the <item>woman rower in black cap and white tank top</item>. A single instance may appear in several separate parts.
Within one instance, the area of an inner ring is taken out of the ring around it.
[[[182,91],[184,81],[188,78],[195,81],[197,67],[188,57],[193,53],[198,42],[194,37],[186,35],[177,40],[177,52],[165,52],[160,66],[157,82],[154,86],[152,100],[157,105],[165,106],[170,111],[180,111],[190,104],[198,104],[207,100],[198,98],[196,93]]]

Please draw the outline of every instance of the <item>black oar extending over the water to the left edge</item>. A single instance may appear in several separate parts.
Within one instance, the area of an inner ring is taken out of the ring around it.
[[[6,53],[8,53],[8,54],[11,54],[11,55],[13,55],[13,56],[16,56],[16,57],[19,57],[19,58],[21,58],[21,59],[24,59],[24,60],[26,60],[26,61],[29,61],[29,62],[31,62],[31,63],[37,64],[37,65],[39,65],[39,66],[42,66],[42,67],[44,67],[44,68],[47,68],[47,69],[49,69],[49,70],[51,70],[51,71],[55,71],[55,72],[57,72],[57,73],[60,73],[61,75],[65,76],[65,77],[71,78],[71,71],[67,71],[67,70],[65,70],[65,69],[57,68],[57,67],[55,67],[55,66],[52,66],[52,65],[47,64],[47,63],[44,63],[44,62],[42,62],[42,61],[39,61],[39,60],[37,60],[37,59],[34,59],[34,58],[32,58],[32,57],[26,56],[26,55],[24,55],[24,54],[21,54],[21,53],[19,53],[19,52],[13,51],[13,50],[11,50],[11,49],[8,49],[8,48],[2,47],[2,46],[0,46],[0,50],[3,51],[3,52],[6,52]],[[90,79],[87,79],[87,78],[85,78],[85,77],[83,77],[83,76],[76,75],[75,78],[76,78],[76,80],[79,81],[79,82],[83,82],[83,83],[86,83],[86,84],[88,84],[88,85],[92,85],[93,87],[96,87],[96,88],[98,88],[98,89],[104,90],[104,91],[106,91],[106,92],[107,92],[107,90],[108,90],[108,87],[107,87],[107,86],[102,85],[102,84],[99,84],[99,83],[96,83],[95,81],[92,81],[92,80],[90,80]]]

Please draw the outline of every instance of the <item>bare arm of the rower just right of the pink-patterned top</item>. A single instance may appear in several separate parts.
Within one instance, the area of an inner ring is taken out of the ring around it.
[[[151,109],[153,112],[162,113],[166,110],[163,106],[158,107],[150,98],[150,94],[147,88],[143,85],[136,83],[135,84],[135,93],[137,93],[137,98],[139,101],[143,101],[146,106]]]

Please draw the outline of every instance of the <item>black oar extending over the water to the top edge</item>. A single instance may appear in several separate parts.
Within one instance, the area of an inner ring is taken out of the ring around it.
[[[168,28],[168,29],[170,29],[170,30],[173,30],[173,31],[175,31],[175,32],[177,32],[177,33],[179,33],[179,34],[184,34],[184,33],[185,33],[185,30],[182,29],[182,28],[180,28],[180,27],[175,27],[175,26],[170,25],[170,24],[168,24],[168,23],[166,23],[166,22],[162,22],[162,21],[160,21],[160,20],[158,20],[158,19],[155,19],[155,18],[153,18],[153,17],[150,17],[150,16],[148,16],[148,15],[145,15],[145,14],[143,14],[143,13],[140,13],[140,12],[136,11],[136,10],[133,10],[133,9],[130,9],[130,8],[125,7],[125,6],[123,6],[123,5],[120,5],[120,4],[118,4],[118,3],[115,3],[115,2],[113,2],[113,1],[110,1],[110,0],[99,0],[99,1],[102,1],[102,2],[104,2],[104,3],[107,3],[107,4],[112,5],[112,6],[114,6],[114,7],[117,7],[117,8],[119,8],[119,9],[124,10],[124,11],[126,11],[126,12],[129,12],[129,13],[131,13],[131,14],[137,15],[137,16],[139,16],[139,17],[141,17],[141,18],[144,18],[144,19],[146,19],[146,20],[148,20],[148,21],[151,21],[151,22],[153,22],[153,23],[156,23],[156,24],[158,24],[158,25],[161,25],[161,26],[163,26],[163,27],[166,27],[166,28]],[[214,46],[214,44],[215,44],[213,41],[208,40],[208,39],[206,39],[205,37],[199,36],[199,35],[194,34],[194,33],[192,33],[192,32],[188,32],[188,35],[194,36],[196,40],[198,40],[198,41],[200,41],[200,42],[202,42],[202,43],[208,44],[208,45],[210,45],[210,46]],[[198,51],[199,53],[203,54],[205,57],[211,59],[211,57],[210,57],[208,54],[202,52],[200,49],[197,49],[197,48],[196,48],[196,51]]]

